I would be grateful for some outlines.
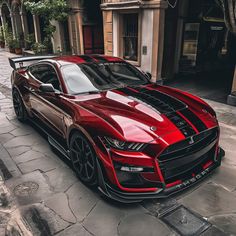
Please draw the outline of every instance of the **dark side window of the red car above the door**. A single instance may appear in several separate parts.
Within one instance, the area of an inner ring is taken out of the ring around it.
[[[48,64],[39,64],[29,68],[30,73],[45,84],[52,84],[56,90],[62,91],[60,81],[54,68]]]

